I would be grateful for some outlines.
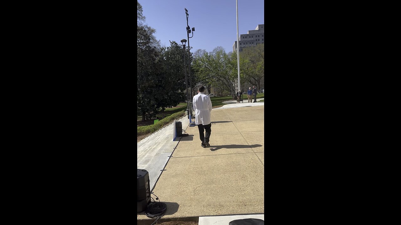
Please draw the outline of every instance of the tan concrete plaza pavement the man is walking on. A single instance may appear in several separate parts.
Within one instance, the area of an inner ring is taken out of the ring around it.
[[[153,190],[167,205],[162,218],[264,213],[264,105],[257,103],[213,109],[207,148],[198,127],[183,124],[189,136],[180,139]],[[144,212],[140,220],[154,221]]]

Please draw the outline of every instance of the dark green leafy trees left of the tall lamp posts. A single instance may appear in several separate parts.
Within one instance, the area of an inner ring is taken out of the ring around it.
[[[182,47],[174,41],[168,47],[160,47],[154,36],[156,30],[144,24],[142,12],[138,2],[137,115],[145,121],[183,102],[186,92]]]

